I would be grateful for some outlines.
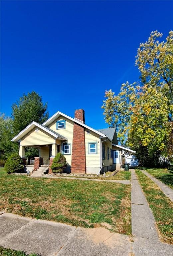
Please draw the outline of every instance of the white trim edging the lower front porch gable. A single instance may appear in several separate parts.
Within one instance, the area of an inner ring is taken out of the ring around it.
[[[11,141],[16,141],[17,142],[19,139],[21,139],[23,136],[25,136],[29,131],[31,131],[35,126],[39,127],[40,129],[44,130],[45,132],[51,134],[56,139],[58,138],[58,135],[56,135],[55,133],[49,131],[47,128],[44,128],[42,125],[40,125],[40,124],[38,124],[36,122],[32,122],[25,129],[23,129],[20,133],[18,133]]]

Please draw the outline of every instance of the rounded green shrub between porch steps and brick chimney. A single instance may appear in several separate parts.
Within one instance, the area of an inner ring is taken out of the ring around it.
[[[51,165],[53,173],[62,173],[67,167],[67,162],[65,156],[61,153],[58,153],[54,158],[54,161]]]

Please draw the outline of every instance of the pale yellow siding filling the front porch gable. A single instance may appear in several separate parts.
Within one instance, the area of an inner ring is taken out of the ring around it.
[[[36,132],[36,129],[38,129],[38,132]],[[23,138],[21,138],[20,146],[45,145],[54,143],[55,137],[42,129],[35,127]]]

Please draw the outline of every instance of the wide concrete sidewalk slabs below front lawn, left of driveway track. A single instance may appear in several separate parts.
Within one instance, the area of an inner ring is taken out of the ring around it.
[[[129,236],[3,213],[1,245],[41,256],[129,256]]]

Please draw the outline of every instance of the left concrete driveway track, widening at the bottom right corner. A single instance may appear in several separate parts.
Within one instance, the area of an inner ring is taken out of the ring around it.
[[[159,240],[154,216],[134,170],[131,170],[131,219],[135,256],[172,256],[173,246]]]

